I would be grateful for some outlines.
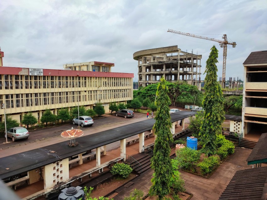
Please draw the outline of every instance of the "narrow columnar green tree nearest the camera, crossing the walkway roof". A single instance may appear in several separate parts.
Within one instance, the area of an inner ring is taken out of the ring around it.
[[[168,96],[168,87],[166,80],[162,77],[156,92],[157,115],[155,116],[155,148],[154,156],[151,158],[151,168],[154,170],[151,179],[152,186],[150,194],[157,195],[161,200],[170,192],[170,180],[173,175],[172,161],[170,159],[171,147],[173,142],[171,133],[171,117],[169,113],[169,105],[171,103]]]

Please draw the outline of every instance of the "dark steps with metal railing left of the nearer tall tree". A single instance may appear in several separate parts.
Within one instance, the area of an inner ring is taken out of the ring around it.
[[[151,155],[145,153],[138,153],[136,155],[133,155],[131,158],[126,160],[126,163],[129,164],[139,174],[150,168]]]

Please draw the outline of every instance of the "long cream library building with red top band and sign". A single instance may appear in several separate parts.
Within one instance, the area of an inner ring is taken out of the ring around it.
[[[0,121],[4,120],[3,107],[6,114],[18,122],[28,112],[40,122],[46,109],[57,115],[60,108],[70,110],[79,104],[93,109],[100,102],[105,112],[109,112],[111,102],[126,103],[133,99],[134,74],[110,72],[113,63],[90,63],[109,72],[92,71],[91,68],[79,71],[79,67],[76,71],[0,67]]]

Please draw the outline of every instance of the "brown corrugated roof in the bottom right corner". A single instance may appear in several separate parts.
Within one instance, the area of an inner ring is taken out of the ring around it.
[[[266,200],[266,178],[267,167],[237,171],[219,200]]]

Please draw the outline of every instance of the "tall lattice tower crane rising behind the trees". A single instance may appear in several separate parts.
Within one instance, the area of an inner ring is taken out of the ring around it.
[[[220,47],[223,47],[222,82],[221,82],[221,86],[222,86],[222,88],[225,88],[225,69],[226,69],[227,45],[232,45],[233,48],[234,48],[237,45],[236,42],[228,42],[226,34],[224,34],[222,36],[222,38],[224,40],[219,40],[219,39],[213,39],[213,38],[203,37],[203,36],[199,36],[199,35],[194,35],[194,34],[190,34],[190,33],[183,33],[183,32],[176,31],[176,30],[171,30],[171,29],[168,29],[167,32],[176,33],[176,34],[180,34],[180,35],[186,35],[186,36],[190,36],[190,37],[194,37],[194,38],[207,39],[207,40],[211,40],[211,41],[215,41],[215,42],[220,43]]]

